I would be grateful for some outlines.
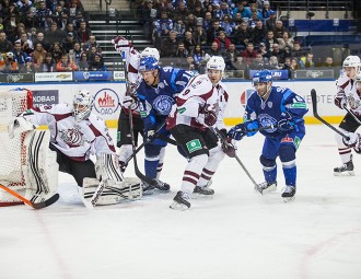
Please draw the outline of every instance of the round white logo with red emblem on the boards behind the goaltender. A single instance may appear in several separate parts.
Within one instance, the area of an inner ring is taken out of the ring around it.
[[[113,115],[118,111],[119,96],[112,89],[100,90],[94,100],[94,108],[100,115]]]

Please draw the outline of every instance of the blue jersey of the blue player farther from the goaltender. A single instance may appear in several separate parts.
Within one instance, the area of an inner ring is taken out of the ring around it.
[[[305,101],[290,89],[271,86],[271,92],[264,101],[254,91],[248,101],[244,114],[244,121],[257,120],[260,127],[273,126],[272,129],[261,130],[266,137],[277,137],[284,133],[277,128],[282,118],[291,119],[296,129],[305,131],[303,116],[308,112]]]

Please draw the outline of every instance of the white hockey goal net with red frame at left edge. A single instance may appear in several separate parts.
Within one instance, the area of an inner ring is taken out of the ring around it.
[[[22,165],[26,163],[26,150],[23,140],[25,132],[10,139],[8,128],[10,121],[19,114],[33,107],[33,94],[25,89],[0,91],[0,184],[13,189],[25,189]],[[12,204],[7,201],[5,193],[0,193],[0,206]],[[19,204],[19,202],[13,202]]]

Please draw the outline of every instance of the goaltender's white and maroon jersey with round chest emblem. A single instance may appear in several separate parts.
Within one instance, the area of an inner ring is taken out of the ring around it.
[[[26,111],[23,116],[34,125],[48,125],[50,142],[75,161],[85,161],[91,154],[98,158],[101,153],[115,152],[104,120],[93,113],[78,123],[72,106],[58,104]]]

